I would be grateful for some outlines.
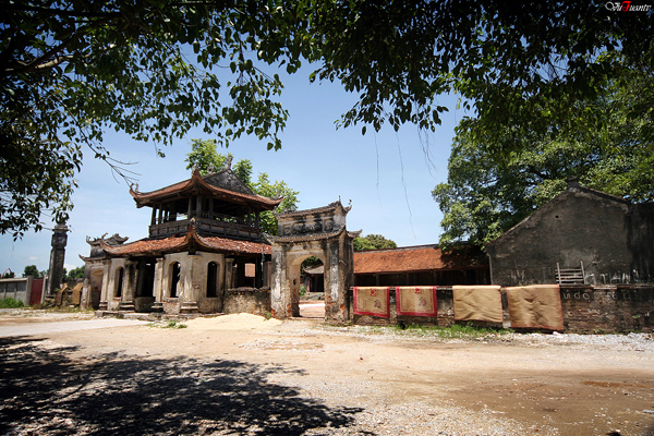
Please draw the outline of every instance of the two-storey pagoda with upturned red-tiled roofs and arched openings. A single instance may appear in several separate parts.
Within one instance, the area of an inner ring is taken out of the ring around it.
[[[255,194],[230,164],[207,175],[194,168],[190,179],[152,192],[130,187],[136,207],[152,208],[148,237],[93,240],[83,257],[83,301],[101,312],[177,315],[223,312],[228,290],[269,294],[271,251],[261,214],[282,198]],[[99,303],[90,304],[98,301],[94,289]]]

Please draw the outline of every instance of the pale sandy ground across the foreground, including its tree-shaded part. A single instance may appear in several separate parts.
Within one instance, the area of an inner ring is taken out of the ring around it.
[[[164,325],[0,338],[0,434],[654,435],[654,344]]]

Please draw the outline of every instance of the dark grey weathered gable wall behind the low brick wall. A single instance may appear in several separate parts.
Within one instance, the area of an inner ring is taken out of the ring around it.
[[[556,283],[561,268],[580,268],[590,284],[652,277],[654,214],[596,191],[568,190],[487,245],[494,284]]]

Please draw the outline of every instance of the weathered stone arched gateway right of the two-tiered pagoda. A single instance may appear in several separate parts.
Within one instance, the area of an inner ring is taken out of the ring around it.
[[[266,235],[272,245],[272,316],[300,315],[301,264],[316,256],[325,268],[325,318],[348,318],[346,291],[354,284],[352,241],[361,233],[346,229],[350,209],[338,201],[326,207],[275,214],[279,235]]]

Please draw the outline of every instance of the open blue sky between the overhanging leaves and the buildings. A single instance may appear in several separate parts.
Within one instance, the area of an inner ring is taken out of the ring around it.
[[[252,160],[255,175],[267,172],[271,180],[284,180],[300,191],[300,209],[325,206],[340,196],[346,205],[352,201],[349,230],[383,234],[399,246],[437,243],[443,215],[431,191],[447,180],[453,128],[464,116],[462,109],[456,110],[457,98],[438,98],[450,111],[443,114],[443,125],[435,133],[405,124],[399,132],[385,126],[373,133],[368,128],[362,136],[361,125],[335,126],[355,96],[340,84],[310,84],[308,73],[310,69],[303,69],[284,80],[280,101],[290,116],[280,135],[281,150],[268,152],[256,137],[242,137],[227,152],[235,160]],[[128,168],[140,174],[140,191],[147,192],[190,177],[184,158],[192,138],[208,140],[210,135],[191,132],[162,148],[166,158],[157,157],[154,143],[136,142],[113,131],[106,133],[104,145],[113,158],[135,162]],[[137,209],[125,182],[117,181],[110,168],[94,159],[89,150],[76,179],[80,187],[72,197],[75,207],[69,220],[68,269],[84,265],[78,255],[89,253],[86,237],[120,233],[129,241],[147,237],[150,209]],[[11,268],[17,276],[26,265],[47,269],[51,234],[48,230],[31,232],[16,242],[11,235],[0,237],[0,268]]]

